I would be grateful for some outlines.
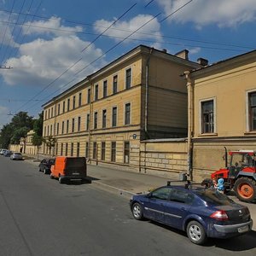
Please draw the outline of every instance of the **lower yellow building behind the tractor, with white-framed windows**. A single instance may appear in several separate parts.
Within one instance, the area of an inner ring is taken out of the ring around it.
[[[224,167],[224,147],[256,148],[256,50],[186,76],[191,170],[199,181]]]

